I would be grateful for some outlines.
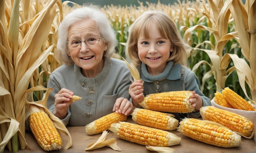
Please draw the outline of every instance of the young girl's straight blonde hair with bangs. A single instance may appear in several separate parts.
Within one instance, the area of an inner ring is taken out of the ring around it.
[[[139,35],[148,38],[149,28],[155,24],[162,37],[170,39],[173,47],[168,61],[174,61],[174,64],[180,63],[186,66],[186,48],[180,33],[171,17],[164,11],[146,11],[140,15],[129,27],[129,35],[126,43],[126,57],[135,67],[141,66],[141,61],[137,52],[137,43]]]

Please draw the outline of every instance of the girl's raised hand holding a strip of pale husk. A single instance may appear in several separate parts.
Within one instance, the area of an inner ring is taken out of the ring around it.
[[[143,90],[144,87],[141,79],[133,81],[129,87],[129,94],[132,97],[132,103],[135,107],[139,107],[139,103],[144,99]]]

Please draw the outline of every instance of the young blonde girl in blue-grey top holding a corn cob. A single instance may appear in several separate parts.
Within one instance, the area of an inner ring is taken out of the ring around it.
[[[129,94],[135,107],[139,107],[148,94],[189,90],[189,99],[199,117],[202,106],[211,105],[210,99],[200,91],[200,82],[186,67],[186,48],[175,23],[163,11],[146,11],[129,28],[126,57],[140,73],[140,80],[132,82]],[[187,114],[175,114],[180,120]]]

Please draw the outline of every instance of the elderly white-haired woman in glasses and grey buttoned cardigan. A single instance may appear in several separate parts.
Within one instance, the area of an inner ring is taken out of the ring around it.
[[[75,9],[59,25],[58,37],[56,57],[64,65],[49,77],[49,110],[69,126],[85,126],[113,111],[130,115],[130,71],[111,58],[117,40],[106,15],[94,5]],[[73,95],[82,99],[72,103]]]

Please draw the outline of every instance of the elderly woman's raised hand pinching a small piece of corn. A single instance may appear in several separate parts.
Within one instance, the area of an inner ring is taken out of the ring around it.
[[[60,119],[63,119],[67,116],[67,110],[72,103],[70,99],[74,95],[74,92],[62,88],[57,94],[55,94],[55,109],[53,114]]]

